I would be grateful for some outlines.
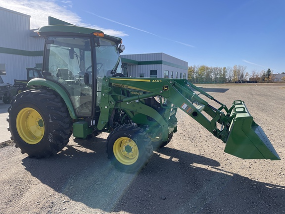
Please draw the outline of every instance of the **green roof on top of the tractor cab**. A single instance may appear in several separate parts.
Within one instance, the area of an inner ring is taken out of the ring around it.
[[[48,25],[41,27],[38,34],[43,37],[48,36],[95,36],[94,33],[103,33],[103,31],[92,28],[79,27],[75,25]],[[104,34],[106,39],[120,43],[121,38]]]

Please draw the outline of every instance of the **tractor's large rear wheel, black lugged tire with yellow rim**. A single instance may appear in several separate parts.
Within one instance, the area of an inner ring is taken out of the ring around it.
[[[12,100],[8,113],[11,140],[22,154],[49,157],[69,141],[71,119],[65,103],[53,91],[24,91]]]

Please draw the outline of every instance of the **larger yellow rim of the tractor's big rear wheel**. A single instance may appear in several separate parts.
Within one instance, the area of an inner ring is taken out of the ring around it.
[[[45,133],[45,124],[41,114],[30,107],[19,111],[16,128],[20,137],[28,144],[39,143]]]

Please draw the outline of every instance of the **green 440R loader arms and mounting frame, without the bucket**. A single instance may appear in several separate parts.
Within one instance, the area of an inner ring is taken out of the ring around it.
[[[229,131],[228,129],[231,123],[229,121],[229,117],[227,117],[221,110],[211,107],[206,101],[198,97],[191,90],[189,86],[190,83],[185,79],[174,80],[144,78],[105,78],[103,82],[105,85],[103,85],[102,87],[101,114],[99,119],[100,123],[98,123],[98,126],[100,126],[99,129],[107,124],[108,116],[106,115],[110,114],[109,109],[111,109],[112,107],[119,107],[125,110],[132,109],[137,112],[141,112],[142,114],[153,117],[162,127],[165,127],[165,121],[160,118],[161,116],[159,114],[155,115],[155,113],[152,112],[153,110],[151,110],[150,108],[147,110],[148,107],[137,107],[140,103],[140,100],[155,96],[161,96],[164,99],[167,99],[169,106],[179,107],[188,115],[190,115],[194,120],[204,126],[214,136],[221,139],[223,142],[226,142],[227,140],[227,134]],[[195,89],[198,89],[193,85],[191,86]],[[114,99],[114,96],[106,100],[107,93],[110,92],[110,94],[112,94],[112,87],[136,90],[141,91],[143,93],[140,95],[122,97],[121,99],[117,99],[116,101]],[[205,93],[203,91],[201,92]],[[207,96],[209,99],[214,99],[208,94],[205,94],[205,96]],[[137,102],[137,106],[135,107],[135,109],[134,103],[132,104],[132,102]],[[223,107],[225,108],[225,105],[223,105],[221,108]],[[203,111],[210,115],[212,118],[208,119],[202,113]],[[225,124],[222,126],[222,130],[217,128],[217,122]],[[165,130],[167,130],[166,127]],[[166,133],[165,131],[165,138],[167,138],[167,135],[168,132]]]

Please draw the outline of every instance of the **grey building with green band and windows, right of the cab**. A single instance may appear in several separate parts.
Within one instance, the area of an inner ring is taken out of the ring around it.
[[[122,54],[122,63],[130,77],[188,78],[188,62],[163,53]]]

